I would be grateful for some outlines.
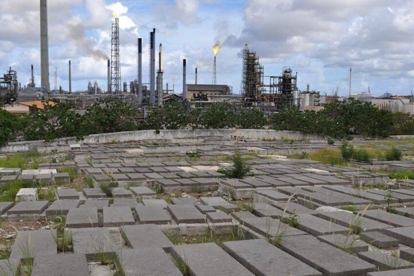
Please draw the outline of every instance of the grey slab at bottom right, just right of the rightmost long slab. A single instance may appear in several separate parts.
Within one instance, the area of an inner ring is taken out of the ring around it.
[[[399,257],[387,255],[380,251],[358,253],[358,257],[377,266],[379,270],[412,268],[414,264]]]

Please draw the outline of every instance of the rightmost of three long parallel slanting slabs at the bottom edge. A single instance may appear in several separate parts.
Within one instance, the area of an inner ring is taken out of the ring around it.
[[[373,264],[319,241],[311,235],[284,237],[280,248],[324,275],[365,275],[376,269]]]

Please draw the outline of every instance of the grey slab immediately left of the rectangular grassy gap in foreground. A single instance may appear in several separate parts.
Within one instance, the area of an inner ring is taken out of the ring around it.
[[[154,224],[124,225],[120,228],[126,243],[133,249],[162,248],[169,252],[172,242]]]

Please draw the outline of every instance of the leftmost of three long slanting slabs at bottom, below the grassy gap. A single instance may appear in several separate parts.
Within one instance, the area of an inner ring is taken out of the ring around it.
[[[215,243],[176,245],[171,253],[175,259],[181,259],[188,265],[190,275],[253,276]]]

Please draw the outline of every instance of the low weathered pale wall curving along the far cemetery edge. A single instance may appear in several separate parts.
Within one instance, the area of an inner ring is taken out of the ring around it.
[[[45,148],[59,150],[61,147],[67,147],[70,144],[104,144],[120,143],[129,141],[145,140],[174,140],[174,139],[194,139],[203,137],[223,137],[226,139],[240,140],[281,140],[281,139],[310,139],[325,140],[322,136],[307,135],[295,131],[276,131],[269,129],[178,129],[178,130],[139,130],[114,133],[92,134],[84,137],[83,140],[77,141],[76,137],[60,138],[53,142],[44,140],[24,141],[8,143],[0,148],[0,153],[8,152],[27,152]],[[67,150],[67,148],[65,149]]]

